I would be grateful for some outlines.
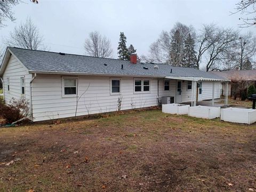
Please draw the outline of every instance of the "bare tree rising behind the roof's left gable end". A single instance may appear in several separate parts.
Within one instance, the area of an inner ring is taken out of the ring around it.
[[[30,50],[46,50],[43,45],[43,37],[39,35],[38,28],[34,25],[30,18],[25,23],[21,23],[19,27],[15,27],[10,36],[4,39],[7,46],[15,46]]]

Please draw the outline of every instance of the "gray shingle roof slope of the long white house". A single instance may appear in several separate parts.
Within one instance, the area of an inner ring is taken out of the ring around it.
[[[15,47],[9,47],[9,49],[29,71],[225,79],[194,68],[172,67],[169,65],[152,63],[133,64],[130,63],[130,61],[118,59],[95,58],[75,54],[61,55],[55,52],[34,51]],[[124,66],[124,69],[121,69],[121,65]],[[155,65],[158,65],[159,68],[154,69]],[[148,69],[144,69],[143,67],[147,67]],[[171,69],[172,73],[170,73]]]

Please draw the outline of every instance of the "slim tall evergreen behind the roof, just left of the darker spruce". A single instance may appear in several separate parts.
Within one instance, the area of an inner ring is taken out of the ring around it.
[[[171,39],[171,65],[172,66],[181,66],[181,36],[180,31],[176,30]]]

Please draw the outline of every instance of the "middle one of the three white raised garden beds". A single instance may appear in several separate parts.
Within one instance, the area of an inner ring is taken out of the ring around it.
[[[189,107],[188,116],[213,119],[220,117],[220,107],[194,106]]]

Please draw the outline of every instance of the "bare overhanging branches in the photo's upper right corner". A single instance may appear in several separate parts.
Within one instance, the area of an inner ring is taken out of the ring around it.
[[[240,27],[250,27],[256,25],[256,0],[243,0],[236,3],[236,12],[245,15],[250,15],[247,18],[241,17],[243,23],[239,24]],[[233,13],[234,14],[234,13]]]

